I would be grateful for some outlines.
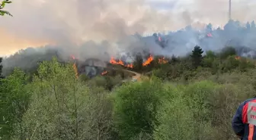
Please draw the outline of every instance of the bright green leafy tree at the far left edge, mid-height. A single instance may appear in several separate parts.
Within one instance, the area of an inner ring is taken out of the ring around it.
[[[0,86],[0,137],[10,139],[14,127],[21,127],[22,117],[29,103],[30,92],[27,85],[28,77],[21,70],[1,79]],[[23,139],[24,131],[19,132],[19,139]]]

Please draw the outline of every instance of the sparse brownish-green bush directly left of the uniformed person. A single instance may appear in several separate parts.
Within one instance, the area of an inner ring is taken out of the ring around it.
[[[245,98],[251,98],[249,92],[242,86],[225,84],[213,90],[209,95],[209,110],[212,116],[210,122],[212,128],[215,128],[215,139],[235,139],[236,135],[233,133],[230,126],[232,116],[242,101]],[[241,94],[242,93],[242,94]]]

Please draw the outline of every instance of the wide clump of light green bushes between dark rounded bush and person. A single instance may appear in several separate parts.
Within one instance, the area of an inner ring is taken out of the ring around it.
[[[165,99],[158,110],[157,140],[234,139],[230,121],[244,95],[242,87],[210,81],[169,89],[174,98]],[[246,98],[249,98],[247,95]]]

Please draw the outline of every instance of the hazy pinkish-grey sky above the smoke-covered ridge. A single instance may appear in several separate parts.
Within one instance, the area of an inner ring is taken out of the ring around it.
[[[0,56],[46,44],[115,42],[133,33],[223,26],[229,0],[13,0],[0,17]],[[232,0],[235,20],[255,20],[256,2]]]

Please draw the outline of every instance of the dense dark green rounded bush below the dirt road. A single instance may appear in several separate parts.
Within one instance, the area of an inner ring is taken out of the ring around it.
[[[152,135],[161,98],[165,98],[162,87],[162,82],[150,80],[126,84],[114,92],[114,125],[120,139]]]

